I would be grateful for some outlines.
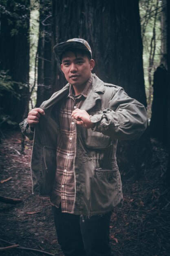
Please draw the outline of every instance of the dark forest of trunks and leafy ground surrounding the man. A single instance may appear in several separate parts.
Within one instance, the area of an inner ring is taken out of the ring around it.
[[[124,202],[115,256],[170,256],[170,1],[1,0],[0,255],[63,256],[48,198],[32,195],[33,141],[19,123],[66,84],[53,47],[84,38],[93,73],[144,104],[148,127],[119,141]]]

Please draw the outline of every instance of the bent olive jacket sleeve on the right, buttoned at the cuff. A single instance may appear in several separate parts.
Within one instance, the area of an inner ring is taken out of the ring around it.
[[[139,101],[130,98],[119,87],[110,98],[108,108],[93,115],[91,122],[96,123],[93,131],[117,139],[137,139],[147,127],[147,113]]]

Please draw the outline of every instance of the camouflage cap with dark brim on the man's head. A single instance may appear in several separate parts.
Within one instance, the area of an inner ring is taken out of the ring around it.
[[[69,48],[85,50],[86,52],[89,52],[91,54],[91,58],[92,58],[92,52],[91,52],[90,45],[87,43],[86,40],[81,39],[81,38],[73,38],[73,39],[67,40],[66,42],[59,43],[54,46],[53,50],[54,50],[56,56],[61,61],[61,56],[62,56],[63,52],[66,52],[67,49],[69,49]]]

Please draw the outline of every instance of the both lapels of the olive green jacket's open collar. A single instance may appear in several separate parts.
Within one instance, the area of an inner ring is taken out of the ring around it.
[[[40,108],[47,110],[53,107],[53,105],[60,101],[60,99],[62,99],[66,94],[68,94],[69,86],[70,84],[67,83],[64,88],[62,88],[62,90],[55,92],[49,100],[44,101],[41,104]],[[104,94],[104,91],[104,82],[100,80],[95,74],[93,74],[91,92],[88,93],[86,100],[81,106],[81,109],[88,111],[93,108],[96,104],[96,101],[101,100],[101,94]]]

